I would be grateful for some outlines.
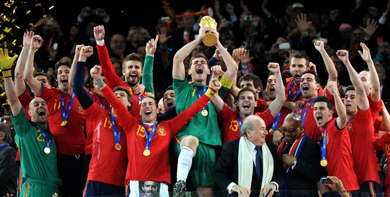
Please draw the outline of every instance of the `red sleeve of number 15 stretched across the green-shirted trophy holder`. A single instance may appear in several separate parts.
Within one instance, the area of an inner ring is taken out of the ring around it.
[[[183,127],[196,115],[207,103],[210,101],[210,98],[207,95],[203,95],[186,110],[178,114],[174,119],[168,121],[167,123],[170,126],[170,131],[172,136],[175,136]]]

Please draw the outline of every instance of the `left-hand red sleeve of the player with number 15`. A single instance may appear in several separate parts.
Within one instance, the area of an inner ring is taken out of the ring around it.
[[[131,132],[132,125],[137,123],[138,119],[135,119],[135,117],[128,112],[122,102],[115,97],[110,87],[106,86],[101,92],[112,108],[114,108],[115,113],[120,114],[118,115],[118,120],[122,125],[124,132]]]

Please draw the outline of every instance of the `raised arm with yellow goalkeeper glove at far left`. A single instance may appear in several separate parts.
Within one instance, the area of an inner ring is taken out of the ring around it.
[[[13,115],[18,115],[22,109],[22,104],[16,94],[14,83],[12,82],[12,64],[14,64],[18,55],[10,58],[8,56],[8,49],[0,48],[0,68],[2,69],[4,77],[4,87],[6,90],[7,99],[10,101],[11,111]]]

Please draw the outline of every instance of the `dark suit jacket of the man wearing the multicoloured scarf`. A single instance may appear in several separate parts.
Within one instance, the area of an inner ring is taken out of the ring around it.
[[[306,138],[298,156],[297,165],[287,180],[287,190],[305,191],[288,191],[288,196],[318,196],[316,181],[326,174],[325,169],[320,165],[320,160],[319,145]]]

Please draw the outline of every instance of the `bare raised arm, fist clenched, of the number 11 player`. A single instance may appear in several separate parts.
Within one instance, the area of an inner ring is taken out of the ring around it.
[[[42,94],[42,84],[40,81],[36,80],[32,75],[34,68],[34,55],[35,51],[42,46],[43,40],[39,35],[34,35],[31,39],[31,46],[28,51],[27,56],[27,66],[24,69],[24,81],[31,88],[31,91],[34,92],[35,95],[40,96]]]

